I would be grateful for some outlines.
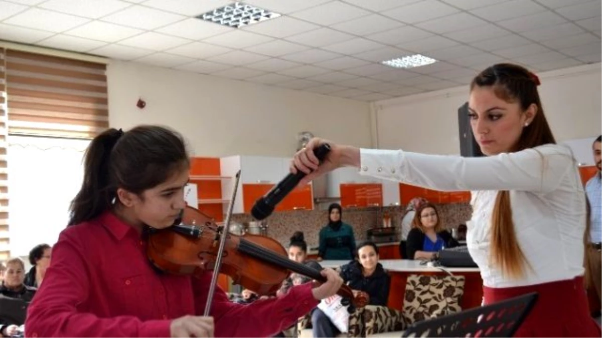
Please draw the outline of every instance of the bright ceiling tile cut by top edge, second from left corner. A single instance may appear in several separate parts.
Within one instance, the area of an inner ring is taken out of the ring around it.
[[[131,5],[131,2],[119,0],[49,0],[38,5],[38,7],[98,19]]]

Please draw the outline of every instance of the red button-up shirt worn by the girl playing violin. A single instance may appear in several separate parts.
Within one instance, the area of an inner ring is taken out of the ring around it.
[[[202,315],[211,273],[159,274],[139,233],[106,212],[68,227],[52,248],[44,283],[29,305],[26,337],[170,337],[171,319]],[[215,337],[266,337],[317,306],[311,284],[287,295],[235,304],[216,288]]]

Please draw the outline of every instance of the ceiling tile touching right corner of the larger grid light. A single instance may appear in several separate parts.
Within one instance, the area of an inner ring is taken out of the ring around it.
[[[330,26],[335,23],[355,19],[356,17],[367,16],[369,11],[363,10],[341,1],[331,1],[316,7],[298,11],[291,16],[299,19],[316,23],[318,25]]]

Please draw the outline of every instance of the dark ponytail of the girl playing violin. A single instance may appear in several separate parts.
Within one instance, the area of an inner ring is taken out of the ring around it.
[[[111,150],[123,132],[108,129],[95,137],[84,154],[84,180],[71,201],[68,226],[92,220],[110,209],[117,188],[111,186],[109,162]]]

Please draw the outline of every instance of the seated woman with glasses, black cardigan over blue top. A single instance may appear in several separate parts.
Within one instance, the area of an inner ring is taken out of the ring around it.
[[[418,207],[412,226],[406,243],[408,259],[434,259],[439,250],[458,246],[458,241],[442,229],[437,209],[431,203]]]

